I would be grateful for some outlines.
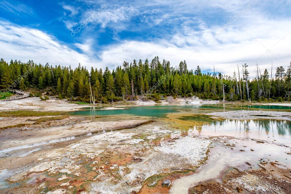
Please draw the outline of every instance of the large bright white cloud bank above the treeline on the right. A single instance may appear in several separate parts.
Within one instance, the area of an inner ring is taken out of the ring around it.
[[[250,22],[252,21],[252,22]],[[238,27],[242,26],[242,27]],[[182,27],[171,40],[159,41],[124,41],[119,45],[109,46],[99,56],[101,62],[110,66],[120,65],[121,61],[133,58],[153,58],[170,60],[171,65],[178,65],[186,60],[188,67],[213,70],[213,67],[223,74],[232,75],[237,64],[247,63],[251,77],[255,76],[255,64],[261,69],[271,72],[273,67],[290,64],[291,21],[275,20],[264,15],[253,15],[244,18],[237,25],[229,26],[219,36],[214,36],[214,29],[200,25],[199,30],[193,30],[188,25]],[[274,70],[273,70],[274,72]],[[274,74],[273,74],[274,76]]]

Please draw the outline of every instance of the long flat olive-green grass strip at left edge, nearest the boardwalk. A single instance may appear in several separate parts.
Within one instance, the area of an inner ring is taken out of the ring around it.
[[[55,116],[63,115],[61,112],[57,111],[4,111],[0,112],[0,117],[40,117],[40,116]]]

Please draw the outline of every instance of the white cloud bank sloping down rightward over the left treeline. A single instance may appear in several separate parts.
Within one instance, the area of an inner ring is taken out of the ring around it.
[[[36,63],[62,64],[76,67],[78,63],[91,66],[94,61],[86,54],[71,49],[55,37],[40,30],[31,29],[10,22],[0,22],[1,57],[24,62],[33,59]],[[86,49],[85,49],[86,50]]]

